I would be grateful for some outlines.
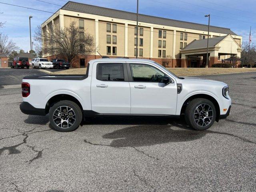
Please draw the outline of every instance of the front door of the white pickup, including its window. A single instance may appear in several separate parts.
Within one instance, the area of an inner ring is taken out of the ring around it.
[[[131,114],[176,114],[176,82],[161,83],[164,72],[154,65],[130,63],[128,76],[131,88]]]

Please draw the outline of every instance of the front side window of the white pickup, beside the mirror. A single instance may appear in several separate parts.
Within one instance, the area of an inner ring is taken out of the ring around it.
[[[163,72],[157,68],[146,64],[130,64],[133,81],[140,82],[160,82]]]

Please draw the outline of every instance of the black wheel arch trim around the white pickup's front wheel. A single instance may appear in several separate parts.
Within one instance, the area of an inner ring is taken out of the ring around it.
[[[218,122],[219,118],[220,118],[220,105],[218,104],[218,101],[214,97],[212,97],[208,94],[194,94],[194,95],[190,96],[189,98],[187,98],[186,101],[182,104],[180,114],[184,114],[188,103],[196,98],[208,99],[214,104],[214,107],[216,109],[216,121]]]

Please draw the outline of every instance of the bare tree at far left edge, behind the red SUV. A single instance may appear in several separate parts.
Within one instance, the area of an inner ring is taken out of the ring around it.
[[[9,40],[8,36],[0,32],[0,53],[9,55],[13,50],[17,50],[18,47],[12,40]]]

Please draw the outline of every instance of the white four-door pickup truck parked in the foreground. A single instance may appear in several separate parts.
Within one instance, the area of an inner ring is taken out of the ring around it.
[[[23,113],[49,114],[62,132],[75,130],[86,117],[181,114],[188,125],[206,130],[231,107],[223,82],[178,77],[152,60],[128,58],[91,60],[84,75],[26,76],[22,96]]]

